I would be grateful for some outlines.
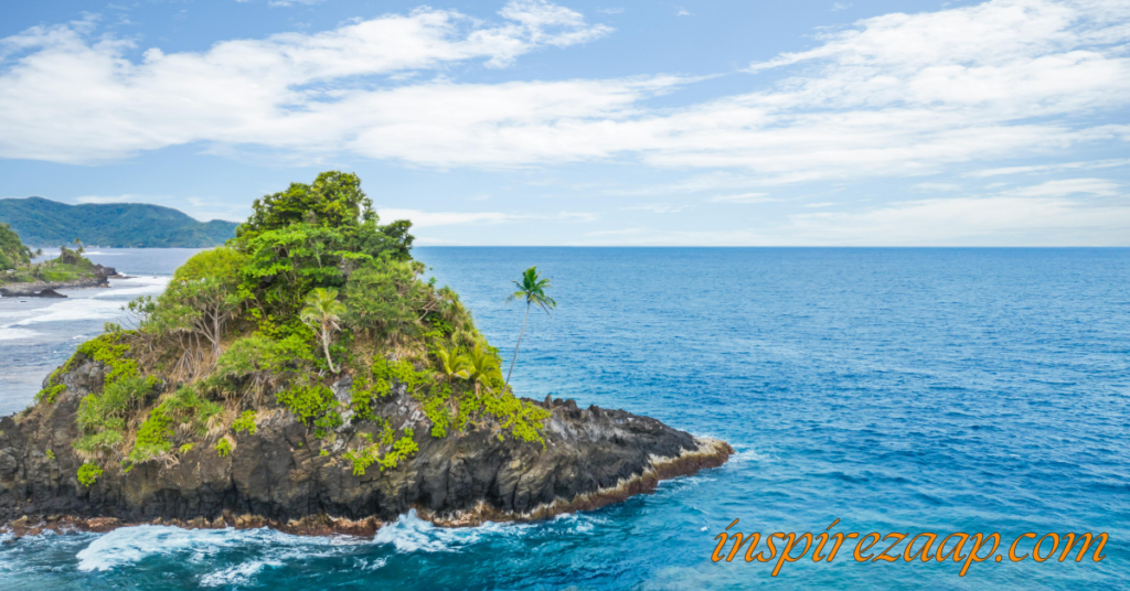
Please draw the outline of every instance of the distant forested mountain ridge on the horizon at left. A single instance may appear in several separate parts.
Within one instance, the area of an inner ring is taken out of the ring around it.
[[[0,199],[0,221],[11,225],[24,244],[59,246],[75,238],[98,246],[207,247],[235,236],[234,221],[197,221],[167,207],[148,203],[70,206],[41,197]]]

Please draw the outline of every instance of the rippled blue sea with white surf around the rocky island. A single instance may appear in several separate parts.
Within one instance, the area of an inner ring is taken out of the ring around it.
[[[192,252],[98,251],[136,278],[0,299],[0,412]],[[524,312],[503,303],[511,280],[534,264],[553,279],[520,394],[649,415],[738,453],[536,524],[406,515],[373,540],[140,527],[0,542],[0,589],[1130,589],[1130,250],[415,252],[507,363]],[[836,519],[833,533],[999,531],[998,554],[1029,531],[1110,541],[1097,564],[990,560],[964,577],[951,562],[860,564],[849,541],[772,577],[772,563],[711,560],[734,519],[763,536]]]

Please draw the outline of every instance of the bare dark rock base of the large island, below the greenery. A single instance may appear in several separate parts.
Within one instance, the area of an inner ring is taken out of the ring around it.
[[[158,522],[372,534],[412,507],[442,525],[528,521],[649,492],[662,478],[721,466],[733,451],[652,418],[581,409],[573,400],[539,402],[553,414],[545,447],[490,423],[435,438],[420,403],[399,388],[380,414],[393,427],[412,427],[419,451],[393,469],[374,464],[354,476],[340,458],[362,434],[380,436],[371,423],[347,417],[319,440],[285,408],[263,408],[257,433],[227,435],[235,445],[225,458],[214,437],[129,473],[104,462],[105,472],[86,487],[76,477],[82,460],[71,447],[79,436],[75,416],[103,373],[96,362],[81,363],[63,376],[68,389],[55,405],[0,419],[0,523],[17,531]]]

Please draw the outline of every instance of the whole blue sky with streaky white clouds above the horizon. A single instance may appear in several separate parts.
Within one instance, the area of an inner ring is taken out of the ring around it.
[[[421,245],[1130,245],[1130,2],[0,7],[0,198]]]

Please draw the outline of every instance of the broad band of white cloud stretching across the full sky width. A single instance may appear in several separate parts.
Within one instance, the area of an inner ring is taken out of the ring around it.
[[[485,25],[421,8],[206,52],[149,49],[140,61],[127,58],[130,43],[73,25],[32,28],[0,50],[0,157],[88,163],[201,142],[438,167],[634,158],[738,170],[751,188],[933,174],[1130,139],[1130,125],[1093,116],[1130,103],[1123,0],[993,0],[864,19],[750,67],[801,67],[779,84],[662,111],[643,102],[689,80],[386,80],[469,60],[504,67],[610,32],[545,1],[499,15]]]

